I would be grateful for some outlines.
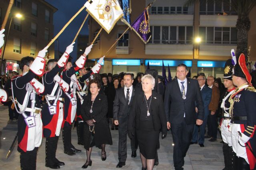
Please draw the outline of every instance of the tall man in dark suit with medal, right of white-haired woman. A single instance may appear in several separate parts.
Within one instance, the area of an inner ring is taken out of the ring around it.
[[[202,125],[204,119],[204,105],[198,81],[186,78],[187,74],[187,66],[179,64],[176,68],[177,79],[167,84],[164,95],[167,128],[172,127],[175,170],[183,170],[184,157],[190,145],[194,124]]]

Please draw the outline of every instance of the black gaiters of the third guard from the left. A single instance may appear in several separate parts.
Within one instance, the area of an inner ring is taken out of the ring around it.
[[[71,143],[71,125],[64,126],[62,128],[62,140],[63,140],[64,150],[72,151],[71,148],[74,148],[74,146]]]

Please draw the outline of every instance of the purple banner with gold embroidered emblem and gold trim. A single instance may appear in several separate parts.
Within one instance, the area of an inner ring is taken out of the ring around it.
[[[144,12],[132,23],[132,29],[145,44],[148,43],[151,37],[148,8],[145,8]]]

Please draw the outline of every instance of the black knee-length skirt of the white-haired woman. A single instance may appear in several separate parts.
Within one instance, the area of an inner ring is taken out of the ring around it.
[[[159,145],[159,131],[154,131],[150,121],[140,121],[140,129],[136,129],[140,153],[146,159],[154,159]]]

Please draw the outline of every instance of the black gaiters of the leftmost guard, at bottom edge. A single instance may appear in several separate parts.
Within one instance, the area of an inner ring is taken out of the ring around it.
[[[20,153],[20,168],[22,170],[36,170],[36,155],[38,148]]]

